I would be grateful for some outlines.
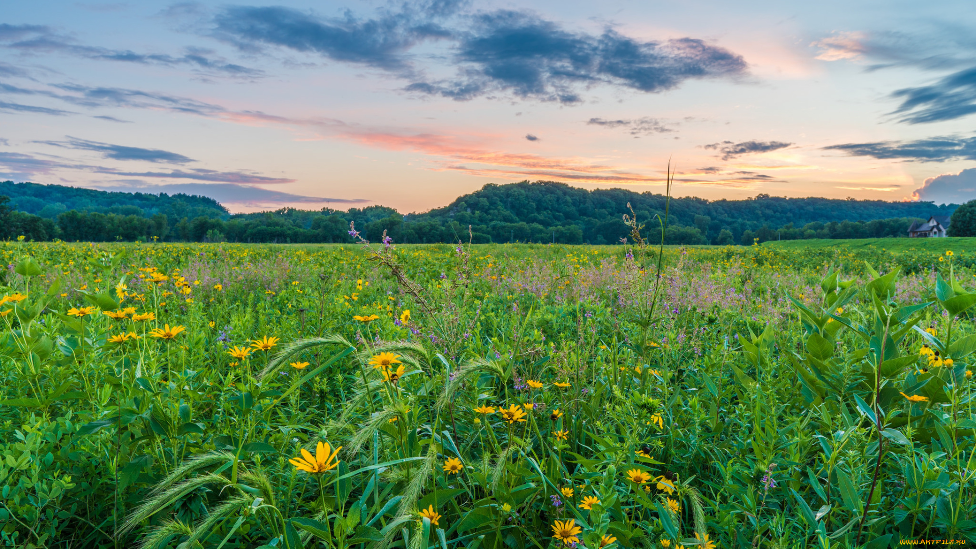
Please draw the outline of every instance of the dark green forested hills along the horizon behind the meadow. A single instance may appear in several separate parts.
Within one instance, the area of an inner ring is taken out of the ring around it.
[[[4,197],[10,196],[7,206]],[[628,203],[646,233],[658,227],[666,197],[624,189],[584,190],[561,183],[489,184],[442,208],[402,215],[385,206],[230,215],[212,198],[106,192],[57,185],[0,183],[0,239],[229,240],[351,242],[349,222],[372,240],[395,242],[559,242],[614,244],[627,236]],[[674,244],[751,244],[753,239],[906,236],[915,219],[948,216],[955,204],[759,194],[745,200],[672,198],[666,239]],[[12,211],[10,211],[12,210]],[[33,215],[36,214],[36,215]],[[658,232],[660,237],[660,232]]]

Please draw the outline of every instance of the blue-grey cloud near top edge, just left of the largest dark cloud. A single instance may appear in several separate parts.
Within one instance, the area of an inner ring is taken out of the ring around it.
[[[441,10],[448,5],[438,4]],[[405,10],[362,20],[346,12],[342,19],[324,19],[281,6],[232,6],[214,18],[214,34],[246,50],[282,46],[335,61],[401,71],[408,68],[404,55],[411,47],[449,35],[435,22],[418,21],[413,15],[423,13]]]

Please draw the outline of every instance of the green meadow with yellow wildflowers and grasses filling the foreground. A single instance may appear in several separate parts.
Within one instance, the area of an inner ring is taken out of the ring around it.
[[[974,257],[0,243],[0,540],[976,541]]]

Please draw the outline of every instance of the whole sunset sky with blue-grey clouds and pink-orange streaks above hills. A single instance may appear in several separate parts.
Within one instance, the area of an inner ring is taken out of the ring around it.
[[[0,180],[421,212],[485,184],[976,198],[976,3],[4,2]]]

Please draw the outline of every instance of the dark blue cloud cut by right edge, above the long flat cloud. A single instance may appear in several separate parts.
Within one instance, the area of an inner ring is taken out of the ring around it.
[[[976,67],[959,70],[930,86],[891,94],[902,100],[893,112],[902,122],[923,124],[953,120],[976,112]]]

